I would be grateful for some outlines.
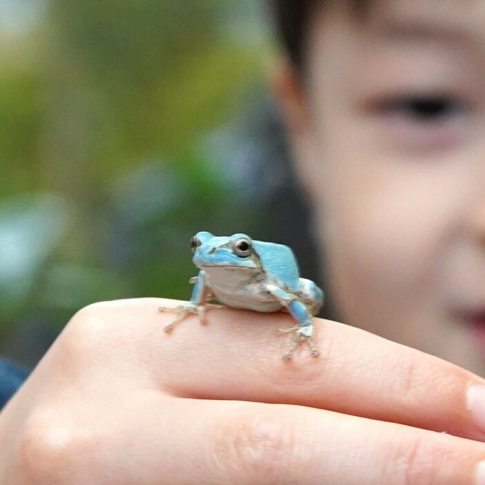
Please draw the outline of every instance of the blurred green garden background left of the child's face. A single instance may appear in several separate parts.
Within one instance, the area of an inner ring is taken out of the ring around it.
[[[200,230],[318,280],[275,56],[263,0],[0,0],[0,354],[32,367],[95,301],[189,298]]]

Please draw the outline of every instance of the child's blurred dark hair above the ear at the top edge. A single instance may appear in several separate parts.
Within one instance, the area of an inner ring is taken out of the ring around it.
[[[270,0],[276,30],[296,70],[305,64],[308,23],[316,6],[323,0]]]

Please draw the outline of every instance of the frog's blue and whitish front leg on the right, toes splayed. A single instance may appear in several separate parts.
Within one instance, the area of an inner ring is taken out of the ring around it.
[[[292,358],[293,352],[298,347],[298,344],[305,339],[312,348],[312,356],[318,357],[320,352],[316,348],[313,340],[313,334],[315,330],[315,323],[313,315],[308,309],[307,305],[303,303],[295,294],[286,292],[284,289],[268,283],[266,285],[267,292],[272,294],[281,305],[287,308],[288,312],[293,316],[298,325],[295,327],[283,328],[279,332],[296,332],[296,339],[288,352],[283,356],[284,361],[289,361]]]

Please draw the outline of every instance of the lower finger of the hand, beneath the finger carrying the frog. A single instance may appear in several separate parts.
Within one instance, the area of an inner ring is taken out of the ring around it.
[[[428,430],[302,406],[156,392],[119,402],[91,418],[89,408],[71,408],[71,415],[63,407],[41,427],[45,436],[27,434],[21,456],[30,473],[59,485],[485,483],[477,478],[484,444]]]

